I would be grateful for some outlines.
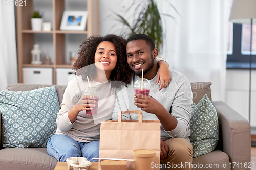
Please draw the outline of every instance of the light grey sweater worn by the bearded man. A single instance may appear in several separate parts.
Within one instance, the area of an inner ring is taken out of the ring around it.
[[[172,131],[165,131],[161,125],[161,140],[170,137],[187,138],[190,136],[190,106],[192,104],[191,86],[184,74],[170,70],[172,80],[166,88],[159,91],[159,84],[155,85],[157,75],[149,80],[151,83],[150,95],[160,102],[169,113],[178,120],[178,124]],[[117,120],[118,113],[125,110],[141,110],[134,105],[134,83],[139,76],[134,75],[128,87],[124,85],[116,90],[115,107],[112,120]],[[142,111],[142,110],[141,110]],[[142,111],[144,120],[158,120],[155,114]],[[138,119],[137,114],[123,114],[122,119]]]

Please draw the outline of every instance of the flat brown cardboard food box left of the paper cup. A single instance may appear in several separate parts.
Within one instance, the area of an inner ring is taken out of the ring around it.
[[[102,160],[101,170],[126,170],[126,161],[123,160]]]

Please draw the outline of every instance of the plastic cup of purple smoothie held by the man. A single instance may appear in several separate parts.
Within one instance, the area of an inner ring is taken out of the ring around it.
[[[145,78],[143,78],[143,82],[142,79],[136,80],[134,88],[136,94],[150,95],[150,81]]]

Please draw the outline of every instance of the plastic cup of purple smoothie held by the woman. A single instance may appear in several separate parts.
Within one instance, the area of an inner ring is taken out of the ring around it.
[[[98,111],[98,103],[99,103],[99,89],[96,87],[88,87],[86,90],[84,90],[83,95],[90,96],[91,98],[88,98],[90,100],[96,101],[95,103],[89,103],[89,104],[94,104],[95,107],[92,107],[92,110],[87,110],[86,114],[87,115],[97,115]]]

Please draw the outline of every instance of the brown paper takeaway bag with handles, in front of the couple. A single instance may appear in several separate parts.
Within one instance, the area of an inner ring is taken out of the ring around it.
[[[139,120],[122,120],[125,113],[136,113]],[[121,111],[118,120],[101,122],[99,157],[134,159],[134,150],[151,149],[156,151],[154,165],[159,165],[160,140],[159,120],[142,120],[140,110]],[[126,169],[135,169],[134,162],[127,162]]]

